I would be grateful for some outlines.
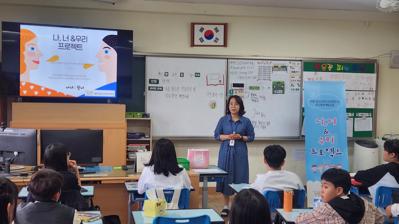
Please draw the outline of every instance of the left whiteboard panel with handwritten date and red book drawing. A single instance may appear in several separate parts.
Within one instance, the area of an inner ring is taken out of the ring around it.
[[[146,113],[153,137],[213,137],[225,114],[226,68],[227,59],[148,56]]]

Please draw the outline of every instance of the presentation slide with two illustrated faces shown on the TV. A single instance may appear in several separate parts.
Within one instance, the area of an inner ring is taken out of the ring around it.
[[[20,96],[116,98],[117,35],[20,25]]]

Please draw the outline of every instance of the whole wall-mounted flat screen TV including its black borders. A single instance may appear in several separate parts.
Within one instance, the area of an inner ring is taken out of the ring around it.
[[[2,96],[132,98],[133,31],[2,22]]]

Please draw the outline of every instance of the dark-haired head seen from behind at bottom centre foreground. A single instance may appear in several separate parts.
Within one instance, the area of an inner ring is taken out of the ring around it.
[[[242,189],[231,203],[229,224],[271,224],[266,198],[255,189]]]

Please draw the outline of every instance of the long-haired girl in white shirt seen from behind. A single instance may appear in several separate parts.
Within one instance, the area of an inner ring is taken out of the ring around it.
[[[138,179],[138,193],[147,189],[190,189],[191,181],[186,170],[177,163],[176,150],[172,141],[158,140],[152,150],[148,164]]]

